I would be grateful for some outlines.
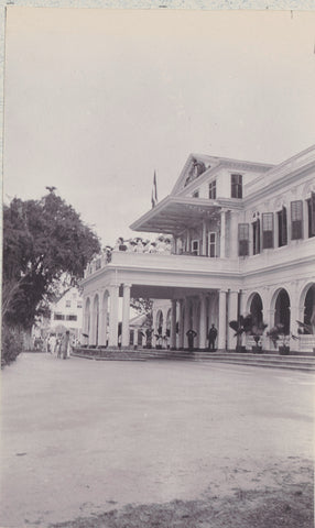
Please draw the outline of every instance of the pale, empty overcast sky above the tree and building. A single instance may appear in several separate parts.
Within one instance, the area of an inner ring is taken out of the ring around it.
[[[9,7],[3,197],[59,194],[100,237],[189,153],[281,163],[315,143],[315,11]]]

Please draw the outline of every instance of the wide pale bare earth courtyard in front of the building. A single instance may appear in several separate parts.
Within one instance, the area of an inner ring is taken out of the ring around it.
[[[2,373],[3,527],[313,527],[314,378],[22,354]]]

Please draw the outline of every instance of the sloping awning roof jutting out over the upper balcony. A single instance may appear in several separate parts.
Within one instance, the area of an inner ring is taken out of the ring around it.
[[[221,209],[218,200],[166,196],[130,226],[133,231],[180,234]]]

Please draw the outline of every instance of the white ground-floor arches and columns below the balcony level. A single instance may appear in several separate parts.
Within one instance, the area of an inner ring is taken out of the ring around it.
[[[122,346],[130,345],[130,284],[115,285],[102,293],[85,297],[83,333],[86,337],[86,344],[115,348],[121,340]],[[120,294],[122,297],[121,332],[118,331]],[[208,329],[214,323],[218,329],[217,348],[233,350],[236,339],[228,321],[237,319],[240,314],[249,312],[252,314],[257,323],[264,321],[268,329],[282,323],[287,336],[297,336],[296,321],[301,321],[302,337],[311,338],[315,334],[315,283],[304,284],[298,288],[296,285],[294,288],[290,283],[286,287],[284,285],[273,289],[263,288],[262,292],[202,290],[198,294],[194,292],[192,295],[187,289],[187,295],[177,299],[166,299],[163,307],[153,311],[153,329],[154,333],[170,337],[164,345],[171,349],[186,349],[186,332],[193,329],[197,333],[195,348],[203,350],[207,348]],[[156,344],[155,341],[153,341],[154,344]],[[263,348],[273,349],[271,341],[265,337],[263,337]]]

